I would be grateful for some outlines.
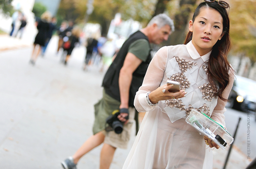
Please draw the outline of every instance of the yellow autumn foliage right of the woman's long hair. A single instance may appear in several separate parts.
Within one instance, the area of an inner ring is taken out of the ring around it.
[[[256,62],[256,1],[230,2],[230,37],[234,53],[244,53]]]

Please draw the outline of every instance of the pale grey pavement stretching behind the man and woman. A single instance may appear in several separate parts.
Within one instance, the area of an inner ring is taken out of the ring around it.
[[[61,161],[71,156],[92,135],[93,104],[102,97],[104,73],[93,65],[83,71],[85,47],[75,48],[67,66],[56,55],[53,37],[45,57],[29,64],[32,47],[0,51],[0,168],[62,168]],[[250,131],[250,158],[256,157],[255,115],[227,108],[226,125],[234,135],[239,116],[237,139],[229,157],[228,169],[245,168]],[[120,169],[135,139],[127,150],[117,149],[111,169]],[[101,146],[81,158],[77,168],[99,168]],[[214,169],[222,169],[228,150],[214,150]]]

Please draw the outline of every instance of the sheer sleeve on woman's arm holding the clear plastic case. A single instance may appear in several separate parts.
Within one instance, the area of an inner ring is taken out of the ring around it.
[[[229,93],[233,87],[233,83],[234,83],[234,70],[230,69],[229,70],[229,84],[227,86],[227,88],[223,91],[223,98],[228,99]],[[227,101],[223,101],[221,99],[218,99],[217,101],[217,105],[215,106],[214,110],[213,110],[213,114],[211,115],[211,119],[213,119],[214,121],[218,122],[219,124],[223,125],[223,127],[225,127],[225,116],[224,116],[224,112],[227,110],[225,108],[227,104]]]

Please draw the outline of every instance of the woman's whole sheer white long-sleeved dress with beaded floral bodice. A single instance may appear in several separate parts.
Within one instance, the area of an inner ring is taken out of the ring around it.
[[[210,53],[200,56],[191,42],[157,51],[135,96],[136,109],[146,115],[123,168],[212,168],[212,153],[205,151],[203,136],[185,122],[190,110],[198,109],[225,126],[226,102],[214,97],[206,74]],[[229,85],[223,92],[226,99],[234,72],[230,70],[229,75]],[[168,79],[179,81],[186,96],[150,106],[146,93]]]

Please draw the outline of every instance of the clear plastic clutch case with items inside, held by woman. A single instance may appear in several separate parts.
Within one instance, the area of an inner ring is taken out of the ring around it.
[[[209,137],[224,150],[234,141],[223,126],[195,109],[191,110],[190,115],[186,117],[186,122],[195,127],[201,135]]]

